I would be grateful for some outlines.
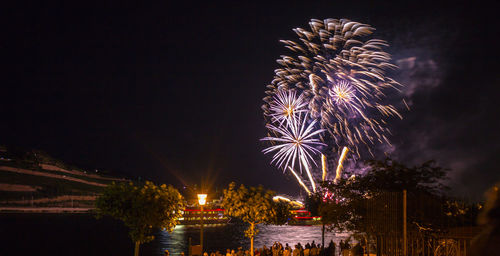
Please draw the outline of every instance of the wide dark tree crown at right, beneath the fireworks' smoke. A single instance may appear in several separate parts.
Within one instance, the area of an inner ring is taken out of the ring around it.
[[[384,225],[387,225],[387,216],[390,215],[384,212],[386,200],[390,198],[387,196],[395,195],[393,199],[400,202],[402,191],[406,190],[409,228],[436,230],[443,226],[468,224],[475,218],[477,207],[464,205],[447,196],[448,188],[443,183],[447,170],[434,161],[408,167],[392,159],[371,160],[367,166],[364,175],[340,179],[337,183],[325,182],[321,192],[306,200],[310,211],[322,216],[323,223],[331,229],[367,232],[371,225],[372,229],[381,230],[386,228]],[[347,176],[351,174],[346,172]],[[390,208],[386,210],[401,211],[402,206],[398,203]]]

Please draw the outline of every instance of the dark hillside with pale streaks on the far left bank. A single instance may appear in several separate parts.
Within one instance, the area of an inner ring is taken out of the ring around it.
[[[0,146],[0,212],[86,212],[113,181],[126,179]]]

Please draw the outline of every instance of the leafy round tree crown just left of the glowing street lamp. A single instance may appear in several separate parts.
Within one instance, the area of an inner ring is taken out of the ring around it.
[[[170,185],[157,186],[150,181],[143,185],[112,183],[96,200],[96,216],[111,216],[129,228],[129,235],[138,246],[154,239],[154,228],[172,232],[181,210],[182,195]]]

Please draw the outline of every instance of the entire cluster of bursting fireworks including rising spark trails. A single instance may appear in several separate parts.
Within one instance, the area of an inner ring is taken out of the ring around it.
[[[321,142],[333,144],[329,145],[333,152],[343,147],[334,179],[337,182],[349,150],[355,153],[353,160],[366,151],[373,156],[376,143],[390,144],[388,119],[402,118],[388,103],[396,95],[392,90],[400,92],[401,84],[386,74],[396,66],[384,51],[388,44],[369,38],[374,28],[346,19],[312,19],[309,26],[310,30],[293,29],[298,40],[281,40],[291,54],[277,60],[280,67],[267,86],[262,105],[270,130],[263,140],[272,143],[263,152],[276,152],[271,163],[284,171],[289,169],[308,193],[294,164],[298,162],[300,174],[305,170],[316,191],[314,177],[319,179],[320,174],[314,176],[311,170],[320,169],[313,168],[311,162],[316,165],[312,155],[320,153],[316,147]],[[314,125],[319,129],[313,129]],[[320,139],[314,139],[315,135]],[[321,154],[322,181],[328,179],[325,155]]]

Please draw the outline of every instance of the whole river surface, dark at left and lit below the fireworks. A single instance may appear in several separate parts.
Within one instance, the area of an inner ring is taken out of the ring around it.
[[[275,241],[290,246],[313,240],[321,243],[320,226],[260,225],[255,247],[271,246]],[[227,248],[247,249],[250,241],[244,237],[245,226],[227,224],[205,226],[205,251],[225,252]],[[119,221],[95,219],[89,214],[0,214],[0,256],[16,255],[133,255],[133,244],[127,228]],[[187,252],[189,238],[199,243],[200,228],[179,225],[172,233],[158,231],[153,242],[141,246],[141,255],[171,255]],[[337,245],[347,234],[326,233],[325,243]],[[187,254],[186,254],[187,255]]]

